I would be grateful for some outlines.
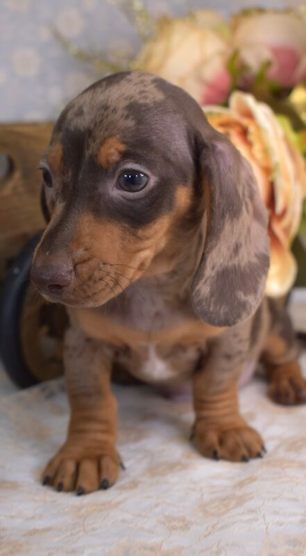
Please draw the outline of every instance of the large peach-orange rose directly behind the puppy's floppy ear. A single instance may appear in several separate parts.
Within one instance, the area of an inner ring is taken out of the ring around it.
[[[266,294],[288,293],[296,278],[296,261],[290,252],[306,196],[306,167],[303,156],[287,138],[269,106],[252,95],[235,91],[229,108],[205,108],[210,124],[225,133],[239,149],[257,179],[269,212],[271,265]]]

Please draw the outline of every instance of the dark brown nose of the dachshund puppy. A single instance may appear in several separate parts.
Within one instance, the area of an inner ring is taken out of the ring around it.
[[[60,295],[71,284],[73,272],[67,265],[44,265],[31,268],[31,280],[46,295]]]

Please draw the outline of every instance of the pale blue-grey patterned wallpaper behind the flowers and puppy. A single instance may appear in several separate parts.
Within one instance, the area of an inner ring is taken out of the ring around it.
[[[152,15],[192,8],[282,8],[299,0],[148,0]],[[139,40],[112,0],[0,0],[0,121],[54,119],[99,75],[65,51],[53,28],[83,49],[137,51]]]

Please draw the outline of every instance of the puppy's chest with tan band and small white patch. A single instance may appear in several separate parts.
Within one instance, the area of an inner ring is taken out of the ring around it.
[[[113,345],[115,362],[146,382],[190,375],[218,330],[198,320],[188,302],[167,300],[155,288],[74,313],[85,334]]]

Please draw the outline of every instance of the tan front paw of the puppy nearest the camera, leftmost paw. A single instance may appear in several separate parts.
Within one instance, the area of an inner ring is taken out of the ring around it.
[[[46,466],[42,484],[58,491],[76,490],[78,496],[108,489],[119,475],[120,459],[112,446],[90,450],[67,441]]]

